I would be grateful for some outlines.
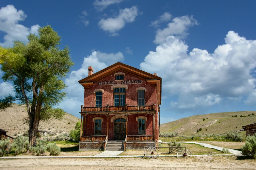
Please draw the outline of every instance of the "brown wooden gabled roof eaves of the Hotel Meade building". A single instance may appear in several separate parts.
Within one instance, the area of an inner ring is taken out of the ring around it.
[[[147,80],[147,82],[155,82],[157,84],[157,95],[158,95],[158,99],[160,98],[160,102],[158,103],[158,105],[161,104],[161,92],[162,92],[162,78],[155,76],[153,74],[150,74],[148,72],[142,71],[140,69],[137,69],[135,67],[123,64],[123,63],[116,63],[113,65],[108,66],[107,68],[104,68],[101,71],[98,71],[96,73],[93,73],[92,75],[83,78],[81,80],[79,80],[78,82],[82,85],[92,85],[94,81],[97,81],[101,78],[104,78],[118,70],[123,70],[127,73],[130,73],[136,77],[140,77],[140,78],[144,78]]]

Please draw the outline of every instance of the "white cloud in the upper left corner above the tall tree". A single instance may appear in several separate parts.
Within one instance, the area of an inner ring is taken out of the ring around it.
[[[13,45],[13,40],[27,42],[29,32],[36,33],[39,25],[33,25],[27,28],[24,25],[18,24],[19,21],[24,21],[26,14],[22,10],[18,10],[13,5],[7,5],[0,9],[0,31],[6,33],[4,42],[1,46],[10,47]]]

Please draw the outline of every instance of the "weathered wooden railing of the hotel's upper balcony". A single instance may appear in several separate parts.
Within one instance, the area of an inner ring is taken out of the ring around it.
[[[155,104],[147,106],[102,106],[102,107],[83,107],[81,105],[81,112],[112,112],[112,111],[152,111],[155,110]]]

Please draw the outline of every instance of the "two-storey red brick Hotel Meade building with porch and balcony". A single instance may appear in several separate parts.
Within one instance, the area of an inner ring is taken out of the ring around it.
[[[79,150],[157,146],[162,79],[120,62],[78,81],[84,86]],[[159,114],[158,114],[159,113]]]

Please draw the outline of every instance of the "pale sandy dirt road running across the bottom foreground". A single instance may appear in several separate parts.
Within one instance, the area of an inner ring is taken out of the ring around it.
[[[256,169],[255,160],[239,160],[235,156],[178,158],[48,158],[0,160],[0,169]]]

